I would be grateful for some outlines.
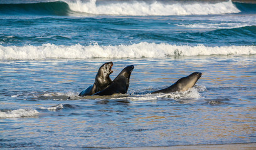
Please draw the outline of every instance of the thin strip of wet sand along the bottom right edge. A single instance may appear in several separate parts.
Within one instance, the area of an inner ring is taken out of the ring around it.
[[[107,148],[111,150],[180,150],[180,149],[232,149],[232,150],[251,150],[256,149],[256,143],[243,143],[243,144],[216,144],[216,145],[189,145],[189,146],[159,146],[159,147],[141,147],[141,148]]]

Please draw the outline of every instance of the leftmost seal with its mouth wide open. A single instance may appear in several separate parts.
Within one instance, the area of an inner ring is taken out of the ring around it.
[[[78,96],[90,96],[109,86],[109,84],[112,83],[112,80],[109,77],[109,75],[113,73],[111,70],[112,66],[112,62],[102,64],[96,74],[94,84],[87,89],[84,89]]]

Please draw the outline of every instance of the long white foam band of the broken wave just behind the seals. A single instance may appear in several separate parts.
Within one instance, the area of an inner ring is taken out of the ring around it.
[[[251,55],[256,54],[256,46],[176,46],[141,42],[119,46],[1,46],[0,59],[88,59],[88,58],[166,58],[169,56],[209,56],[209,55]]]

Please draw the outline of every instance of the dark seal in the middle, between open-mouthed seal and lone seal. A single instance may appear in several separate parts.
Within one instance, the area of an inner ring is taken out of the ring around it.
[[[112,94],[127,93],[130,84],[130,76],[133,69],[133,65],[125,67],[107,88],[93,95],[110,96]]]

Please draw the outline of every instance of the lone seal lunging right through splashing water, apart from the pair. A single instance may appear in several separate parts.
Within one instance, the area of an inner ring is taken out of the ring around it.
[[[152,92],[152,94],[175,93],[175,92],[187,91],[189,88],[192,88],[193,86],[195,86],[196,81],[198,81],[198,79],[200,79],[201,76],[202,76],[202,73],[198,73],[198,72],[192,73],[189,76],[179,79],[176,83],[169,86],[168,88],[154,91],[154,92]]]

